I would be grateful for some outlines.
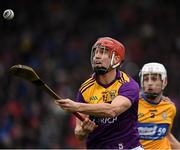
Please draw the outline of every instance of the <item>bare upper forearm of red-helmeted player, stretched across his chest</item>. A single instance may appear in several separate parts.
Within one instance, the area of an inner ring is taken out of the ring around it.
[[[115,117],[117,115],[113,106],[108,103],[101,103],[101,104],[80,103],[78,107],[78,112],[87,115],[100,116],[100,117]]]

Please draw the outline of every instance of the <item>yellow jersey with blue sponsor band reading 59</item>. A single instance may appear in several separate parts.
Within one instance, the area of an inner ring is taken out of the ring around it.
[[[160,103],[153,104],[142,95],[138,108],[138,130],[144,149],[171,149],[166,135],[172,128],[175,114],[176,107],[169,99],[162,98]]]

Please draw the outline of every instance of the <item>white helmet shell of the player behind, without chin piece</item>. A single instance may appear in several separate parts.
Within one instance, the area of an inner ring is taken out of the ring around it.
[[[144,75],[151,74],[151,73],[157,73],[161,75],[161,80],[163,81],[163,89],[164,89],[167,84],[167,71],[164,65],[160,63],[155,63],[155,62],[144,64],[144,66],[142,67],[139,73],[141,87],[143,87]]]

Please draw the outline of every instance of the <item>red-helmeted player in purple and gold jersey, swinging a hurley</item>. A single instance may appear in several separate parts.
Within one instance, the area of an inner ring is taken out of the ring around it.
[[[99,38],[91,51],[94,74],[81,85],[76,102],[56,101],[64,110],[85,117],[76,120],[75,135],[86,139],[88,149],[143,149],[137,130],[139,86],[119,70],[124,57],[123,44]]]

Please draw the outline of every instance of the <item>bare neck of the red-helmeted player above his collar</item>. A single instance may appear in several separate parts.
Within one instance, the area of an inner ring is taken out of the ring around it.
[[[99,81],[103,84],[109,84],[116,78],[116,69],[109,71],[104,75],[99,76]]]

